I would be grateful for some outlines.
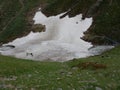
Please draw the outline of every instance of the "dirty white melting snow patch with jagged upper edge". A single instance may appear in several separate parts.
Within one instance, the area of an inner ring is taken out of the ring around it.
[[[23,59],[59,62],[98,54],[95,50],[88,50],[92,47],[91,43],[80,39],[83,32],[92,24],[92,18],[81,20],[80,14],[72,18],[66,16],[60,19],[63,14],[46,17],[41,11],[36,12],[33,18],[35,24],[45,25],[46,31],[31,32],[8,43],[15,48],[1,51],[1,54]]]

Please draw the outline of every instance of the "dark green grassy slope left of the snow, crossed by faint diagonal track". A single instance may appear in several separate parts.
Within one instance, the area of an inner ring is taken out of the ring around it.
[[[0,42],[8,42],[30,32],[28,17],[33,17],[34,8],[46,2],[47,0],[0,0]]]

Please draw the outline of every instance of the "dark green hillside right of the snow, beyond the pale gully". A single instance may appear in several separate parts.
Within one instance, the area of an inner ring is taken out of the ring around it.
[[[93,25],[85,33],[84,39],[92,41],[94,44],[105,44],[109,40],[102,39],[107,36],[120,43],[120,0],[104,0],[97,16],[94,18]],[[108,42],[109,44],[109,42]]]

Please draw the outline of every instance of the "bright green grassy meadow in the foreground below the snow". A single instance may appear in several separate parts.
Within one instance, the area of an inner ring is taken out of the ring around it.
[[[0,56],[0,90],[120,90],[120,46],[99,56],[68,62],[39,62]],[[97,62],[106,69],[78,68]],[[73,67],[74,66],[74,67]]]

